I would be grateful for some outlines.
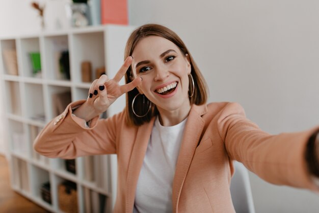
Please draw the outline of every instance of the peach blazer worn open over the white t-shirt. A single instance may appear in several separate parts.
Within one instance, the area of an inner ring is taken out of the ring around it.
[[[48,157],[117,154],[118,185],[114,212],[131,213],[154,118],[140,127],[126,125],[124,111],[106,120],[95,117],[91,128],[72,116],[71,103],[37,137],[34,148]],[[173,212],[235,212],[229,186],[232,160],[262,179],[317,190],[307,172],[305,149],[318,128],[270,135],[245,117],[236,103],[193,105],[173,180]]]

